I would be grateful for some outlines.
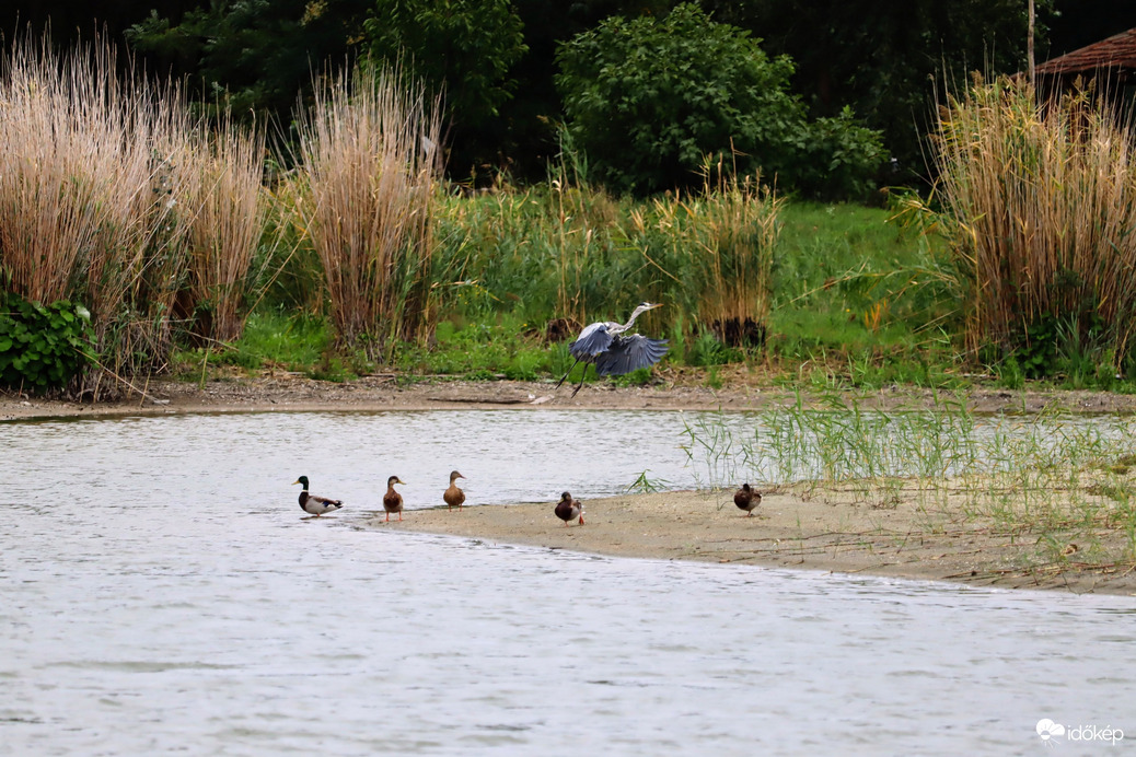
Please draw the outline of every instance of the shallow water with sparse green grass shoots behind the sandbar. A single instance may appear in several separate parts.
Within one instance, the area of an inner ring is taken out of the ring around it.
[[[721,413],[700,415],[683,448],[716,493],[742,480],[795,482],[803,496],[851,488],[872,508],[911,504],[928,529],[949,520],[1005,536],[1034,566],[1109,569],[1136,564],[1136,421],[1106,429],[1055,413],[979,423],[954,398],[882,413],[799,395],[744,438]]]

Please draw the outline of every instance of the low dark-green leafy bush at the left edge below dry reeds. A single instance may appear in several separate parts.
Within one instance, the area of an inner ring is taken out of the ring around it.
[[[91,361],[91,314],[60,300],[50,305],[0,295],[0,385],[42,394],[60,389]]]

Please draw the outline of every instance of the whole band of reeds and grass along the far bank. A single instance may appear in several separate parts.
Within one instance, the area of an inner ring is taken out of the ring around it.
[[[396,72],[324,82],[267,160],[264,132],[111,56],[26,52],[0,79],[0,331],[50,311],[42,343],[78,345],[73,369],[0,340],[11,388],[218,363],[556,378],[583,325],[642,300],[667,305],[640,323],[670,340],[661,370],[710,386],[727,364],[813,389],[1133,386],[1136,168],[1087,95],[976,82],[941,113],[937,194],[886,209],[786,199],[726,155],[696,190],[615,196],[567,144],[546,183],[468,194],[441,178],[438,103]]]

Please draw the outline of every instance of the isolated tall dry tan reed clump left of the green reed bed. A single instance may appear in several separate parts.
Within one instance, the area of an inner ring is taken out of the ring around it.
[[[429,234],[440,108],[396,72],[357,69],[316,87],[300,118],[299,205],[342,344],[376,360],[432,327]]]

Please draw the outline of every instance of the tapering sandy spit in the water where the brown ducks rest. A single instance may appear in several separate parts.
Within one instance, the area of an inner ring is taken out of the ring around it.
[[[952,522],[913,502],[877,508],[861,494],[786,488],[767,493],[752,518],[732,494],[674,491],[585,502],[584,525],[563,525],[552,501],[418,510],[401,523],[374,525],[621,557],[1136,596],[1136,572],[1127,567],[1080,564],[1076,552],[1046,563],[1038,535],[1006,533],[979,519]]]

